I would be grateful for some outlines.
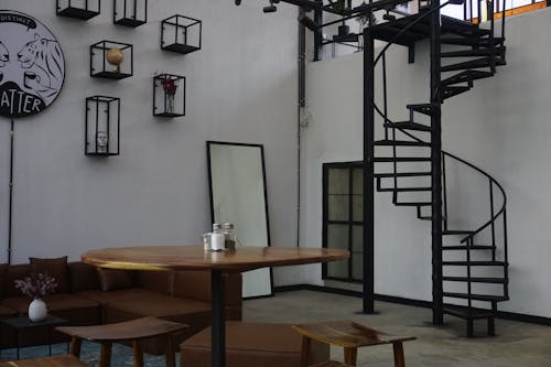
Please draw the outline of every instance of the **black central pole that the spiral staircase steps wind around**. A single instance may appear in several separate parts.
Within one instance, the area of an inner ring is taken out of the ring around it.
[[[442,288],[442,109],[440,93],[440,0],[431,3],[432,323],[444,323]]]

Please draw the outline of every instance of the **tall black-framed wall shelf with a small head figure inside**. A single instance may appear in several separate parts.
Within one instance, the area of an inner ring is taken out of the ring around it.
[[[93,96],[86,98],[86,155],[119,155],[120,98]]]

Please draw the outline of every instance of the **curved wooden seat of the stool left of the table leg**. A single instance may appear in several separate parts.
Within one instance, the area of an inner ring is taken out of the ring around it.
[[[58,332],[90,342],[136,341],[187,328],[185,324],[155,317],[94,326],[58,326]],[[1,366],[0,366],[1,367]]]

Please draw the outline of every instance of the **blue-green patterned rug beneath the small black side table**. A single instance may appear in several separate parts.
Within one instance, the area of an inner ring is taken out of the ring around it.
[[[68,344],[54,344],[52,345],[52,355],[62,355],[68,353]],[[48,355],[47,346],[35,346],[21,348],[19,352],[20,359],[33,359],[45,357]],[[0,360],[14,360],[17,359],[17,349],[3,349],[0,350]],[[83,347],[80,352],[80,359],[89,365],[90,367],[97,367],[99,360],[99,344],[83,342]],[[180,366],[179,356],[176,355],[176,365]],[[145,367],[164,367],[164,356],[152,356],[145,354],[143,356],[143,361]],[[126,367],[133,366],[132,348],[114,344],[111,354],[111,366],[112,367]]]

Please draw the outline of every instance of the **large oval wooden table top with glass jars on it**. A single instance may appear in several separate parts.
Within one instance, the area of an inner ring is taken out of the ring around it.
[[[144,246],[90,250],[86,263],[129,270],[226,270],[248,271],[347,259],[348,251],[299,247],[238,247],[236,251],[205,251],[202,246]]]

